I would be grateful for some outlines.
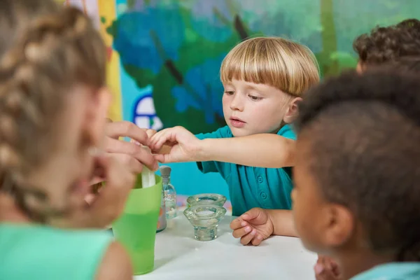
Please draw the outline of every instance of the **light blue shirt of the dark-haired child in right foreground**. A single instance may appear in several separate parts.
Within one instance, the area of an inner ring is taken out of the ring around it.
[[[351,280],[418,280],[420,262],[390,262],[362,272]]]

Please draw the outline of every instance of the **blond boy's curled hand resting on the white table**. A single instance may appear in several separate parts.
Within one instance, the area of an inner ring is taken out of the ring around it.
[[[233,237],[240,238],[242,245],[260,245],[261,241],[273,234],[274,225],[269,211],[253,208],[230,223]]]

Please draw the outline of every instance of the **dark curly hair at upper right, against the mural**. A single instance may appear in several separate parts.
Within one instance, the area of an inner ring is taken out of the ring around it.
[[[389,27],[375,27],[353,41],[363,64],[382,64],[420,55],[420,21],[408,19]]]

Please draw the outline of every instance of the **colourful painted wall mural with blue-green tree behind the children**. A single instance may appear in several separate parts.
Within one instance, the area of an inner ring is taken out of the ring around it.
[[[351,44],[376,25],[420,18],[419,0],[67,0],[92,15],[109,47],[113,120],[140,127],[225,125],[218,78],[223,57],[249,36],[308,45],[323,76],[356,65]],[[228,195],[217,175],[171,165],[180,193]],[[186,174],[188,178],[186,179]],[[199,187],[197,187],[197,185]]]

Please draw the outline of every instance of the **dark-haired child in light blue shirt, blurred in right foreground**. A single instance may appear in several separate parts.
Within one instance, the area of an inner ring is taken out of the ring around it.
[[[420,80],[404,72],[346,73],[300,106],[295,228],[339,279],[420,279]]]

